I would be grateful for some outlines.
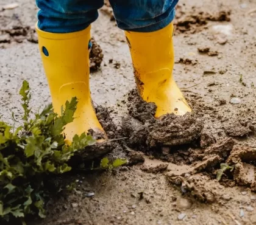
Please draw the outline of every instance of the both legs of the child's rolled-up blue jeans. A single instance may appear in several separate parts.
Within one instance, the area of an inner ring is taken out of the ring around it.
[[[104,0],[36,0],[38,27],[51,33],[87,28],[98,18]],[[174,18],[179,0],[110,0],[118,27],[127,31],[152,32]]]

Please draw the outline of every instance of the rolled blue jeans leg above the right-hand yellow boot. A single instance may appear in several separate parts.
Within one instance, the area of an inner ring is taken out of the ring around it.
[[[120,29],[152,32],[166,27],[178,0],[110,0]]]

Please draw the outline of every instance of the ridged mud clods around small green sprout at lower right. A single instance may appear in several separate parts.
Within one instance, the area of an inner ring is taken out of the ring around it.
[[[243,185],[256,191],[255,187],[255,159],[256,150],[236,144],[232,138],[222,140],[199,153],[194,154],[194,163],[183,171],[169,171],[166,175],[171,184],[178,187],[181,192],[195,196],[201,201],[219,201],[221,189],[224,186]],[[234,170],[224,170],[220,183],[217,176],[221,165],[233,166]]]

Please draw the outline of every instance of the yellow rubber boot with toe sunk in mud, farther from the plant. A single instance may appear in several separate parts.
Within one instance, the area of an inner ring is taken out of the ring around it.
[[[137,89],[143,100],[157,105],[155,117],[183,115],[191,108],[172,77],[173,24],[155,32],[126,32]]]

